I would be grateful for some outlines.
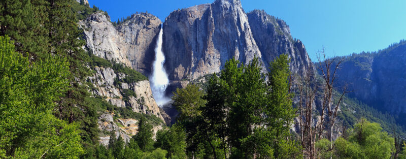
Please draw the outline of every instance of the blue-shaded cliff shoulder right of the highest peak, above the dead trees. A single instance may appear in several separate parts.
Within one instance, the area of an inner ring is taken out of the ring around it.
[[[252,35],[262,54],[266,68],[269,62],[281,54],[288,54],[290,70],[304,75],[311,68],[311,60],[300,40],[293,39],[285,21],[266,14],[263,10],[254,10],[247,14]]]

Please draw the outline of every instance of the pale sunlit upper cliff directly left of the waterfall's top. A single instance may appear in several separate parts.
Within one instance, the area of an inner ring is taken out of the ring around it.
[[[116,27],[103,12],[94,13],[80,22],[86,47],[92,54],[124,63],[145,75],[152,70],[160,24],[157,17],[148,13],[133,14]]]

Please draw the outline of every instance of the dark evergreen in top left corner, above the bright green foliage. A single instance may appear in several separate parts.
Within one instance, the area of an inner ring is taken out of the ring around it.
[[[13,0],[0,2],[0,36],[8,35],[18,52],[36,57],[48,53],[48,30],[44,0]]]

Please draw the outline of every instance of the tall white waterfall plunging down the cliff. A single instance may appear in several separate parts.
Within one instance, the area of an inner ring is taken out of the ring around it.
[[[168,75],[163,68],[165,56],[162,52],[162,30],[159,31],[159,37],[155,47],[155,61],[153,63],[152,76],[150,77],[152,94],[158,106],[171,101],[170,98],[165,97],[165,89],[169,84]]]

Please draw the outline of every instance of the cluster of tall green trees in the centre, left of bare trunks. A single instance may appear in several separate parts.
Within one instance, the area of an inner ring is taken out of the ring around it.
[[[287,55],[275,59],[266,84],[258,58],[246,66],[230,59],[220,77],[210,77],[206,93],[196,85],[177,89],[172,99],[187,151],[197,158],[301,158],[286,126],[295,117],[288,63]]]

